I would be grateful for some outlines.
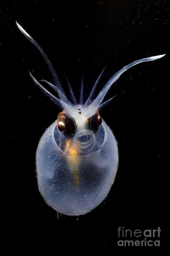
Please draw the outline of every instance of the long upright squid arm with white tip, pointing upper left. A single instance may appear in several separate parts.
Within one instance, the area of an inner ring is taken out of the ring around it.
[[[18,26],[19,30],[24,34],[24,36],[25,36],[30,42],[32,42],[32,43],[37,47],[37,49],[41,52],[41,54],[42,54],[44,60],[46,61],[47,65],[48,65],[49,70],[51,71],[51,74],[52,74],[52,76],[53,76],[55,85],[56,85],[56,87],[57,87],[58,96],[60,97],[60,99],[61,99],[63,102],[67,103],[67,104],[71,104],[71,103],[68,101],[68,99],[67,99],[67,97],[66,97],[66,95],[65,95],[65,93],[64,93],[64,91],[63,91],[63,88],[62,88],[62,86],[61,86],[61,84],[60,84],[60,81],[59,81],[59,79],[58,79],[58,76],[57,76],[55,70],[53,69],[53,66],[52,66],[51,62],[48,60],[46,54],[44,53],[44,51],[41,49],[41,47],[38,45],[38,43],[37,43],[37,42],[36,42],[36,41],[35,41],[35,40],[34,40],[17,22],[16,22],[16,25]]]

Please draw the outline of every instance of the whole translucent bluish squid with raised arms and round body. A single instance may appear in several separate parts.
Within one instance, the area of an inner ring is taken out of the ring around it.
[[[103,99],[124,71],[138,63],[156,60],[164,55],[136,60],[124,66],[109,79],[95,99],[95,88],[104,70],[86,101],[83,99],[83,82],[79,103],[68,82],[71,103],[43,50],[17,22],[16,24],[24,36],[41,52],[55,85],[42,81],[54,89],[58,98],[30,74],[32,80],[62,110],[57,120],[44,132],[38,144],[36,168],[39,191],[46,203],[59,213],[86,214],[108,195],[118,168],[117,141],[99,115],[100,109],[114,97],[102,103]]]

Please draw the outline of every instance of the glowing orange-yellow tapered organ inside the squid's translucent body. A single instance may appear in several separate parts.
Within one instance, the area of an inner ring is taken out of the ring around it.
[[[79,152],[75,145],[71,145],[71,140],[66,141],[65,152],[67,153],[67,162],[72,174],[74,184],[79,189]]]

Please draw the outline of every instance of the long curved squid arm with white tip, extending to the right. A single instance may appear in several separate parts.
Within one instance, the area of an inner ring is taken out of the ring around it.
[[[93,104],[94,107],[98,107],[100,105],[100,103],[103,101],[106,93],[108,92],[108,90],[110,89],[110,87],[112,86],[112,84],[119,78],[119,76],[121,76],[127,69],[131,68],[132,66],[141,63],[141,62],[145,62],[145,61],[152,61],[152,60],[156,60],[156,59],[160,59],[163,56],[165,56],[165,54],[163,55],[158,55],[158,56],[152,56],[152,57],[148,57],[148,58],[144,58],[144,59],[140,59],[140,60],[136,60],[133,61],[132,63],[124,66],[124,68],[122,68],[121,70],[119,70],[117,73],[115,73],[110,79],[109,81],[104,85],[103,89],[101,89],[101,91],[99,92],[98,96],[94,99],[94,101],[91,103]]]

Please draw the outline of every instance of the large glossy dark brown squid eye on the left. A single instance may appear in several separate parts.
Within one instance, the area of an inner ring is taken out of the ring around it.
[[[66,138],[72,138],[76,129],[74,119],[66,116],[63,112],[61,112],[57,117],[57,127]]]

